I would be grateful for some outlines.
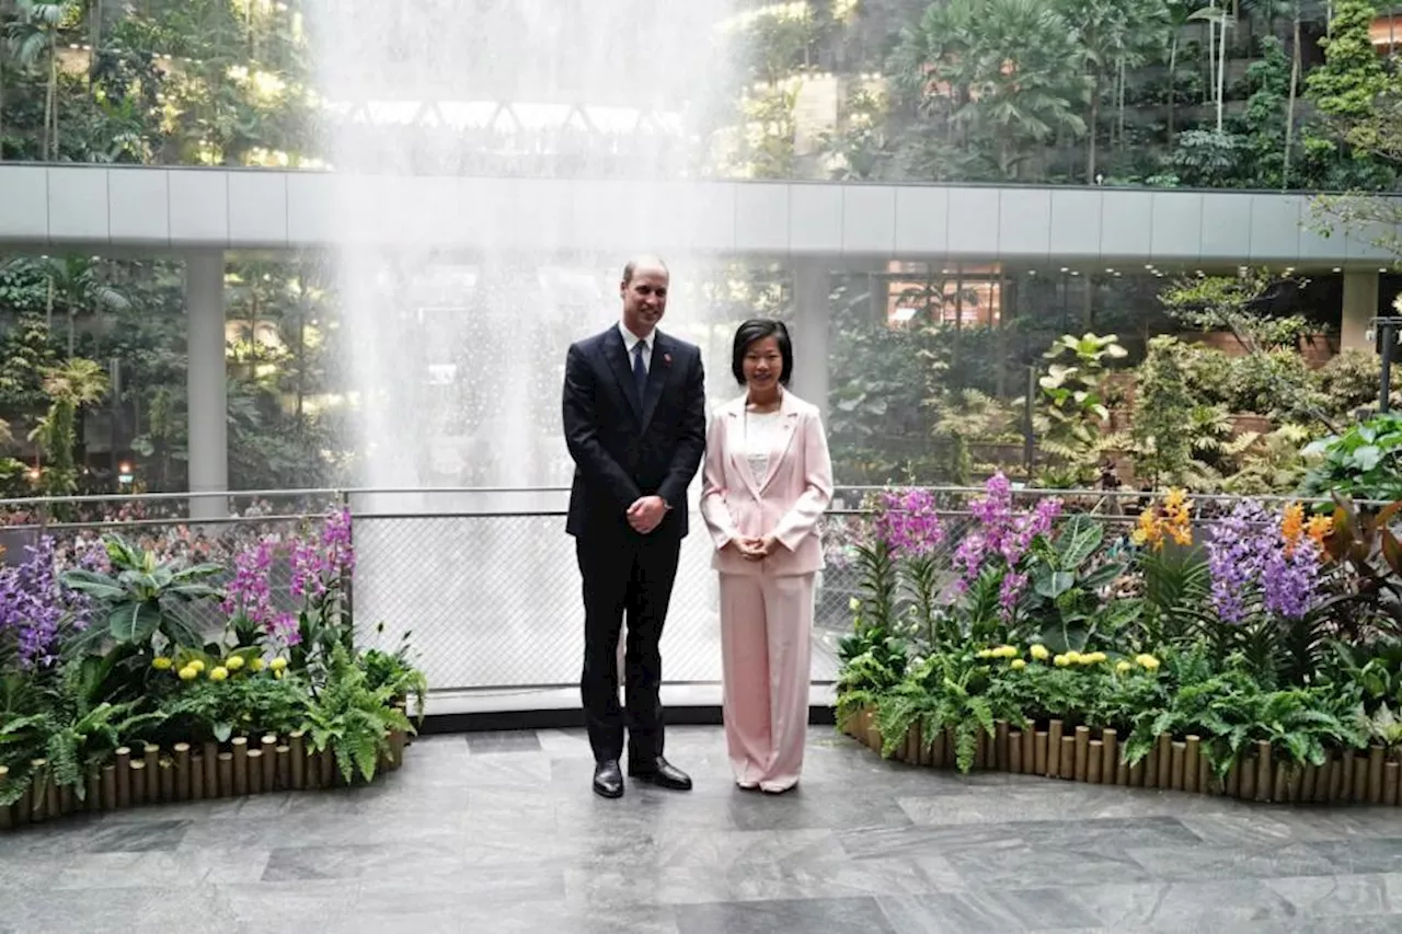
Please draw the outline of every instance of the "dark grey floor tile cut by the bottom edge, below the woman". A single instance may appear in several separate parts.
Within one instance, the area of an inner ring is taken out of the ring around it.
[[[896,934],[872,898],[719,902],[676,912],[680,934]]]

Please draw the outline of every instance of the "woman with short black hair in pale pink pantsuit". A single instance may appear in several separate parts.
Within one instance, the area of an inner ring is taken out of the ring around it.
[[[730,360],[743,397],[707,432],[701,516],[721,574],[725,739],[742,788],[798,784],[808,733],[817,520],[833,501],[833,464],[817,408],[785,387],[788,330],[746,321]]]

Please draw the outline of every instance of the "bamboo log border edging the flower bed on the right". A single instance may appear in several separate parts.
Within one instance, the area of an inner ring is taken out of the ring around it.
[[[843,732],[879,753],[882,742],[875,714],[875,708],[861,711]],[[1022,725],[998,721],[993,735],[979,732],[973,770],[1094,785],[1186,791],[1260,804],[1402,806],[1402,762],[1389,760],[1387,750],[1377,745],[1330,750],[1321,766],[1293,766],[1273,756],[1269,743],[1255,742],[1221,777],[1213,774],[1203,739],[1196,735],[1164,733],[1133,766],[1120,759],[1122,753],[1123,740],[1113,729],[1071,725],[1061,719]],[[893,759],[955,769],[955,733],[945,729],[925,738],[914,725],[906,740],[896,746]]]

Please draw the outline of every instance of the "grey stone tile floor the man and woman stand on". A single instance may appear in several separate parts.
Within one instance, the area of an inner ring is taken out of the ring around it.
[[[883,763],[815,726],[801,787],[589,790],[578,731],[429,736],[342,792],[0,837],[0,933],[1402,931],[1402,811],[1287,809]]]

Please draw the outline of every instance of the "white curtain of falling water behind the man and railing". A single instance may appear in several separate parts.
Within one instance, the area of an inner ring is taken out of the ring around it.
[[[698,174],[704,116],[735,95],[716,28],[733,1],[321,0],[308,11],[318,93],[332,115],[331,229],[345,231],[335,245],[343,327],[355,338],[345,363],[360,485],[414,491],[358,503],[400,517],[358,523],[356,610],[365,623],[412,628],[439,686],[578,679],[573,546],[562,517],[519,513],[564,506],[540,488],[568,487],[572,475],[559,425],[565,349],[617,320],[628,258],[603,236],[579,244],[575,234],[561,251],[561,212],[492,201],[502,182],[481,180]],[[398,217],[412,195],[395,184],[405,177],[477,180],[484,201],[464,209],[488,213],[472,217],[492,224],[485,248],[461,247],[456,216],[414,210],[430,229],[407,229]],[[569,223],[615,231],[622,217],[660,243],[687,243],[691,220],[656,185],[638,196],[620,189],[597,219]],[[568,198],[568,182],[559,191]],[[674,248],[667,258],[674,297],[665,327],[705,345],[719,316],[694,283],[708,259]],[[705,554],[704,536],[693,534],[669,620],[669,680],[714,680],[719,670]]]

